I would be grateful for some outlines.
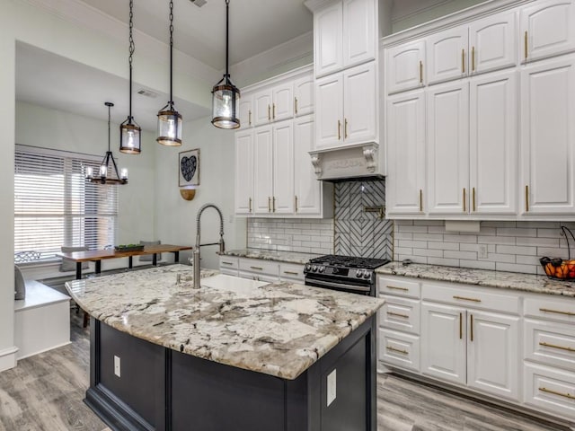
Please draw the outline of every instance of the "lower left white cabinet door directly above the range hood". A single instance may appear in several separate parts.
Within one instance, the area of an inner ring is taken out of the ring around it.
[[[329,75],[315,82],[315,148],[343,144],[343,75]]]

